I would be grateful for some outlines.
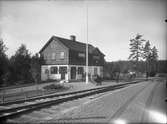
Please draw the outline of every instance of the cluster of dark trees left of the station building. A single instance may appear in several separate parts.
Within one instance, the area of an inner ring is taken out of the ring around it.
[[[40,81],[40,66],[43,59],[38,54],[32,55],[22,44],[10,58],[6,55],[7,48],[0,40],[0,86]]]

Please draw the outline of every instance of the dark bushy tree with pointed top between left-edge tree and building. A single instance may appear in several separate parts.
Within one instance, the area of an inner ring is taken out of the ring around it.
[[[24,44],[11,57],[11,80],[18,82],[31,82],[32,76],[30,72],[31,55]]]

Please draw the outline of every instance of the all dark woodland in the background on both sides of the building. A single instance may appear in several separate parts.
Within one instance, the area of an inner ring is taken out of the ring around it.
[[[130,55],[126,61],[105,62],[103,77],[116,80],[117,75],[135,72],[146,77],[167,73],[167,60],[158,60],[158,50],[149,40],[137,34],[130,39]],[[32,55],[26,45],[21,44],[10,58],[8,48],[0,39],[0,87],[27,83],[41,83],[41,65],[44,59],[39,54]]]

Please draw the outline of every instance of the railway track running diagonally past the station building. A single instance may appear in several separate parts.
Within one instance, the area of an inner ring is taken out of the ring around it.
[[[16,118],[22,114],[30,113],[35,110],[39,110],[41,108],[45,108],[52,105],[58,105],[64,102],[76,100],[79,98],[84,98],[87,96],[104,93],[111,90],[116,90],[120,88],[124,88],[130,84],[139,83],[143,80],[133,81],[126,84],[119,84],[114,86],[105,86],[95,89],[89,89],[84,91],[77,91],[71,93],[57,94],[57,95],[49,95],[45,97],[39,97],[35,99],[30,99],[29,101],[19,101],[15,104],[8,104],[5,106],[6,108],[0,110],[0,120],[6,122],[7,119]]]

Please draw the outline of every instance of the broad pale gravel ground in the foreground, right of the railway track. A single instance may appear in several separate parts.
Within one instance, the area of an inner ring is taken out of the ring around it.
[[[43,108],[15,121],[51,123],[166,123],[163,80],[129,87]]]

